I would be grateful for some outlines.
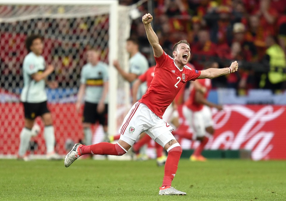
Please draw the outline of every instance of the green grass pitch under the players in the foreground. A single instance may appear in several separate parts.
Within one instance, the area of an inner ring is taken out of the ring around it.
[[[286,200],[286,161],[181,159],[172,186],[186,196],[159,196],[164,167],[155,160],[0,160],[0,200]]]

